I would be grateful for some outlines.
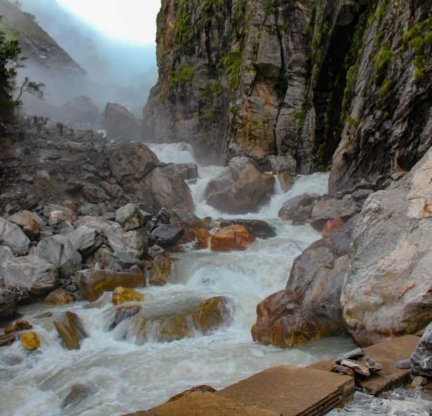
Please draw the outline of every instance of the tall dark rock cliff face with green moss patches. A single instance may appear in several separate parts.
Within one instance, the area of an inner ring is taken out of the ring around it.
[[[212,162],[332,165],[332,191],[411,168],[431,140],[430,16],[419,0],[163,0],[145,120]]]

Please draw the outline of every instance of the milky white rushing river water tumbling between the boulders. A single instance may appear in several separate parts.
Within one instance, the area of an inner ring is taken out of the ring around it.
[[[163,162],[194,162],[193,150],[185,144],[151,145]],[[221,171],[219,166],[200,168],[200,179],[190,184],[198,216],[219,218],[223,213],[206,205],[206,184]],[[284,288],[292,261],[319,234],[307,225],[294,227],[277,218],[282,203],[303,192],[325,193],[327,176],[300,177],[285,195],[276,184],[276,194],[258,214],[277,228],[278,236],[258,240],[245,252],[213,253],[191,250],[179,254],[172,284],[143,288],[143,307],[174,309],[190,300],[226,295],[235,304],[233,324],[210,336],[197,335],[172,343],[136,345],[134,336],[122,339],[119,326],[107,331],[111,294],[102,297],[100,309],[83,309],[86,302],[57,307],[55,314],[72,310],[80,315],[89,332],[78,351],[63,349],[50,320],[35,315],[48,308],[27,306],[26,319],[35,324],[42,347],[24,352],[19,343],[0,351],[1,415],[121,415],[163,403],[168,397],[193,385],[222,388],[272,365],[306,365],[353,347],[347,338],[325,338],[292,349],[258,345],[251,339],[255,307],[267,295]],[[60,407],[74,383],[90,385],[92,394],[80,404]]]

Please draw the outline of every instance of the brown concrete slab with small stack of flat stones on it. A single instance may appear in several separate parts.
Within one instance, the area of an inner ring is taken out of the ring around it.
[[[400,370],[395,367],[395,363],[409,358],[415,347],[417,347],[419,340],[420,338],[417,336],[407,335],[363,348],[368,356],[375,358],[382,364],[383,369],[368,379],[361,379],[356,376],[355,383],[357,387],[371,395],[379,395],[385,390],[406,383],[411,370]],[[333,365],[334,360],[327,360],[309,365],[307,368],[330,371]]]

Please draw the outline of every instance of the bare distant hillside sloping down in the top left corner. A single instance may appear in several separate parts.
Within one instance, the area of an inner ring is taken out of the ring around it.
[[[86,71],[60,47],[35,21],[33,15],[23,12],[15,4],[0,0],[0,30],[8,39],[19,40],[28,66],[39,67],[60,76],[82,77]]]

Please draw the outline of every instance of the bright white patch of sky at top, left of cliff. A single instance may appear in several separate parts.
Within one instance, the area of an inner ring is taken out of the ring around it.
[[[154,44],[161,0],[57,0],[91,26],[117,39]]]

